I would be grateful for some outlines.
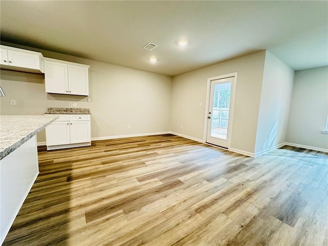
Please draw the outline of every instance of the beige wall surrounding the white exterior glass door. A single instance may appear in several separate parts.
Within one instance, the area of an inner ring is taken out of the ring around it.
[[[260,51],[173,77],[171,131],[202,140],[208,78],[237,72],[231,148],[254,153],[264,58]]]

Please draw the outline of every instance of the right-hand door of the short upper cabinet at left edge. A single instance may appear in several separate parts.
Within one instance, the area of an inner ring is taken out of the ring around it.
[[[10,66],[40,69],[40,57],[24,51],[7,50]]]

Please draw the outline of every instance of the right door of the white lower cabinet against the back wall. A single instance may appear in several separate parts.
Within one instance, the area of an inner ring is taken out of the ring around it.
[[[90,121],[70,121],[71,144],[90,142]]]

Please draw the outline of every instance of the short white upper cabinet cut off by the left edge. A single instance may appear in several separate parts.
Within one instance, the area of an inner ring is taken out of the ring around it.
[[[1,68],[44,73],[43,55],[39,52],[0,45]]]

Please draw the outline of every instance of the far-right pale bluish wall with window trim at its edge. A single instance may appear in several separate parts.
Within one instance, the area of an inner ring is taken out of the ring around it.
[[[328,67],[295,72],[286,141],[328,151]]]

